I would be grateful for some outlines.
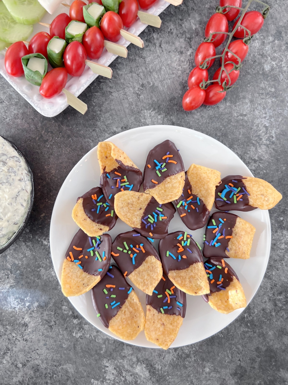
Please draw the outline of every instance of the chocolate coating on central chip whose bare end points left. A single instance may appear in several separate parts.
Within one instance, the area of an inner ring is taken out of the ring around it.
[[[141,218],[141,228],[134,227],[134,230],[139,231],[141,235],[147,238],[164,238],[168,234],[168,226],[175,213],[176,209],[172,203],[159,204],[154,197],[151,197]],[[160,220],[162,216],[167,218]],[[149,233],[153,235],[151,236]]]

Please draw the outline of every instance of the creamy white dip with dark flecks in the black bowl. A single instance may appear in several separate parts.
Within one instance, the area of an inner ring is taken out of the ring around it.
[[[0,248],[22,225],[30,205],[31,189],[25,160],[0,136]]]

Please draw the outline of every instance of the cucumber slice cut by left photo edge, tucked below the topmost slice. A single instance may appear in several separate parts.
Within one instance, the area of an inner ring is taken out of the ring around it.
[[[33,25],[23,25],[15,22],[3,2],[0,1],[0,40],[6,43],[27,40],[32,32]]]

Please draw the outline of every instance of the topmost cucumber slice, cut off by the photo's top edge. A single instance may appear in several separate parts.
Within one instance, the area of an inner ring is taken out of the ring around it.
[[[37,0],[2,0],[17,23],[36,24],[45,15],[46,10]]]

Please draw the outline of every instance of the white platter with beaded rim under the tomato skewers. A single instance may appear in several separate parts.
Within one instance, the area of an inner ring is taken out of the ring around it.
[[[72,0],[71,0],[72,2]],[[69,1],[67,1],[69,3]],[[151,15],[160,15],[161,12],[164,11],[170,4],[167,3],[164,0],[159,0],[156,4],[153,5],[153,7],[149,8],[145,12],[151,13]],[[63,5],[60,5],[59,8],[53,13],[53,15],[50,15],[48,12],[46,12],[45,16],[41,20],[43,23],[50,24],[52,20],[59,15],[60,13],[67,13],[69,14],[69,9],[67,7],[64,7]],[[130,27],[125,28],[128,32],[133,33],[134,35],[140,35],[142,31],[147,27],[147,24],[142,24],[139,20],[139,18],[136,20],[136,22]],[[151,27],[154,28],[154,27]],[[33,33],[31,34],[30,38],[35,35],[35,33],[38,33],[40,31],[49,32],[49,29],[46,27],[43,27],[40,24],[35,24],[33,26]],[[123,37],[117,42],[117,44],[124,45],[127,47],[130,43],[127,42]],[[139,48],[141,49],[141,48]],[[145,49],[145,42],[144,42],[144,49]],[[29,102],[32,107],[35,108],[41,115],[44,115],[46,117],[53,117],[63,110],[65,110],[66,107],[68,107],[66,96],[63,92],[61,92],[58,96],[52,98],[52,99],[45,99],[43,98],[39,93],[39,87],[36,85],[33,85],[29,83],[25,76],[21,77],[13,77],[7,74],[5,70],[5,64],[4,64],[4,57],[5,57],[5,50],[0,51],[0,74],[12,85],[13,88],[17,92],[19,92],[20,95],[23,96],[24,99]],[[106,48],[103,50],[103,54],[98,60],[93,60],[96,63],[103,64],[103,65],[109,65],[113,60],[116,59],[118,55],[110,54]],[[128,57],[126,59],[122,58],[123,60],[129,60],[129,53]],[[48,65],[48,71],[51,70],[50,64]],[[68,75],[67,84],[65,86],[65,89],[70,91],[73,95],[79,96],[87,87],[89,84],[93,82],[96,77],[99,75],[93,74],[92,70],[86,65],[84,72],[79,77],[71,77]],[[89,108],[89,105],[88,105]],[[90,106],[92,108],[92,105]]]

